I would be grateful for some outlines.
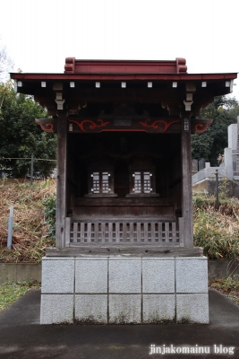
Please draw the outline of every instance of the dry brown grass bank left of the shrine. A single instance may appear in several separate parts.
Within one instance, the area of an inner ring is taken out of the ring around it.
[[[42,200],[55,194],[55,180],[0,180],[0,261],[40,261],[53,243],[47,235]],[[6,249],[9,208],[14,206],[13,250]]]

